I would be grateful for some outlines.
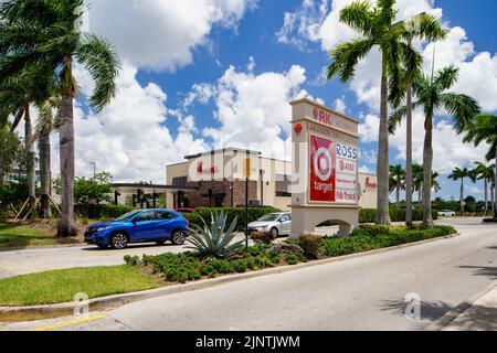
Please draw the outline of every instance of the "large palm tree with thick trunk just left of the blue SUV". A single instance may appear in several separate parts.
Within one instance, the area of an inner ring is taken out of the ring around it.
[[[116,92],[119,60],[110,44],[81,30],[83,0],[4,0],[0,6],[0,77],[15,74],[34,63],[56,73],[61,89],[60,160],[62,215],[59,236],[76,234],[74,224],[74,124],[73,99],[77,85],[74,61],[88,69],[95,88],[89,105],[97,111]]]

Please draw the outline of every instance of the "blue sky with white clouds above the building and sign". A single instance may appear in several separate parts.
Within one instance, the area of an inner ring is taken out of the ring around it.
[[[289,151],[282,153],[288,146],[286,101],[302,96],[362,122],[361,169],[374,172],[377,53],[362,62],[349,84],[322,77],[327,50],[353,38],[336,20],[349,0],[167,2],[144,0],[140,7],[92,1],[88,29],[116,45],[124,72],[118,97],[102,114],[88,113],[84,97],[80,99],[78,174],[91,173],[89,161],[96,161],[115,180],[163,182],[163,165],[220,145],[257,142],[273,147],[268,154],[289,156]],[[454,90],[470,94],[485,110],[496,111],[497,23],[489,17],[497,13],[497,2],[479,0],[476,7],[464,0],[399,0],[398,8],[400,18],[421,11],[441,17],[450,39],[437,44],[435,66],[461,67]],[[430,67],[432,44],[419,43],[419,49]],[[92,84],[84,69],[78,76],[83,92],[89,93]],[[415,121],[422,124],[421,114]],[[420,159],[423,131],[415,130],[414,158]],[[446,173],[455,165],[469,165],[485,147],[462,147],[442,115],[435,133],[434,164],[443,174],[438,195],[458,197],[458,185],[446,180]],[[403,140],[402,131],[392,137],[391,163],[404,164]],[[480,196],[479,184],[468,190]]]

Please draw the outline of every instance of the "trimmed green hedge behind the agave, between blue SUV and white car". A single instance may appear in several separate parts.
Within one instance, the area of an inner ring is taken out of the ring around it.
[[[231,222],[237,217],[236,228],[237,231],[243,231],[245,227],[245,208],[244,207],[198,207],[193,213],[184,213],[183,216],[190,221],[190,224],[197,224],[199,226],[203,226],[201,218],[205,222],[211,220],[211,212],[225,212],[228,214],[226,224],[231,224]],[[248,223],[257,221],[263,215],[272,212],[281,212],[278,208],[274,207],[248,207]]]

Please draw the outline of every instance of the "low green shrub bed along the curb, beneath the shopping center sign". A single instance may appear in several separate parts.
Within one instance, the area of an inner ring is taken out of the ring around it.
[[[255,271],[267,267],[296,265],[315,259],[330,258],[378,248],[414,243],[456,234],[451,226],[433,229],[405,226],[363,225],[347,237],[319,237],[304,235],[274,245],[256,245],[247,250],[239,249],[230,258],[202,258],[195,253],[126,256],[127,264],[142,267],[149,274],[159,275],[167,282],[187,282],[221,275]]]

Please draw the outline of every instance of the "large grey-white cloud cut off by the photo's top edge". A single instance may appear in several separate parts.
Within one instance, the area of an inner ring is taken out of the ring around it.
[[[137,67],[175,71],[209,44],[213,25],[236,29],[257,0],[88,0],[86,25]]]

